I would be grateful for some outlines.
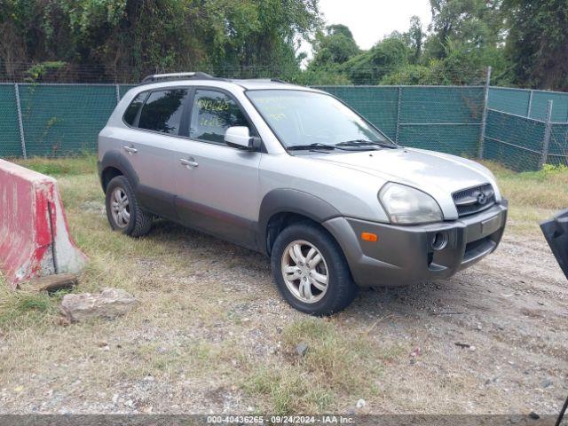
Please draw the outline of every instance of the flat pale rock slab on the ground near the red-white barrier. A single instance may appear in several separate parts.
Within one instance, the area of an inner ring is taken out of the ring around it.
[[[129,312],[138,301],[121,288],[105,288],[100,294],[63,296],[61,311],[71,322],[91,318],[114,319]]]

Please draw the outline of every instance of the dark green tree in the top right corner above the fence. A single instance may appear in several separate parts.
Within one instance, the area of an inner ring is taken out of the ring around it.
[[[568,2],[506,0],[514,83],[568,91]]]

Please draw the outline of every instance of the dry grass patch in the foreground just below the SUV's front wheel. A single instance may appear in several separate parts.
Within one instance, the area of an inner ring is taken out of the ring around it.
[[[245,389],[264,396],[265,409],[275,414],[333,411],[336,401],[352,394],[374,398],[384,363],[401,353],[333,319],[298,319],[283,328],[282,343],[279,364],[256,367],[245,382]],[[308,347],[304,356],[296,352],[300,343]]]

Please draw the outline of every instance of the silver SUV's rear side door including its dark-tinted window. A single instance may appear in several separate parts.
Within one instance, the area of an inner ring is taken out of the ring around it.
[[[142,103],[136,115],[133,110],[129,113],[130,108],[124,115],[124,121],[134,128],[122,150],[138,174],[138,200],[144,208],[172,219],[177,217],[171,147],[181,138],[188,96],[189,90],[183,87],[147,91],[134,100]]]

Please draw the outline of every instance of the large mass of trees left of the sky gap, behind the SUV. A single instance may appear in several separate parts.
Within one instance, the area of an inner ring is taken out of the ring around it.
[[[318,0],[3,0],[0,67],[60,60],[79,81],[124,70],[280,76],[299,72],[297,41],[319,26]]]

